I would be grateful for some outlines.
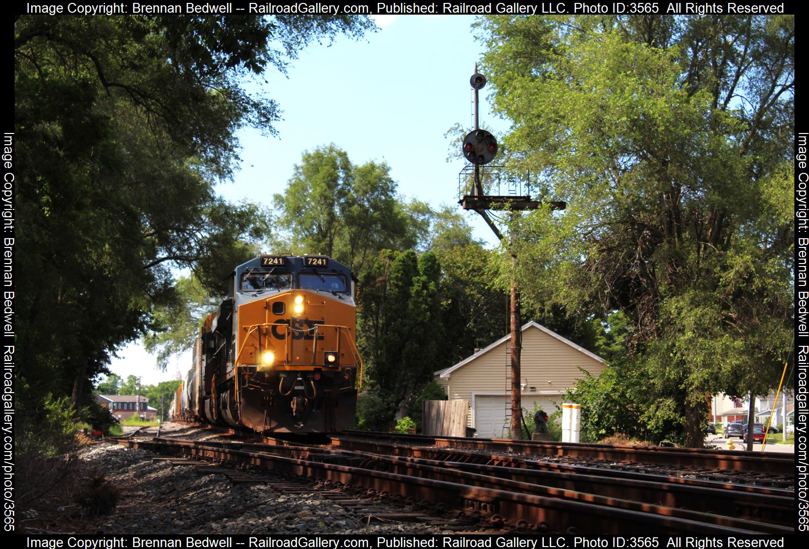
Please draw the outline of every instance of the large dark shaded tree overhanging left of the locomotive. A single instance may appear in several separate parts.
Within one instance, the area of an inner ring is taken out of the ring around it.
[[[171,267],[214,291],[255,239],[256,209],[214,195],[235,130],[273,133],[277,106],[241,87],[311,40],[370,19],[15,19],[19,371],[32,395],[90,402],[87,379],[176,299]]]

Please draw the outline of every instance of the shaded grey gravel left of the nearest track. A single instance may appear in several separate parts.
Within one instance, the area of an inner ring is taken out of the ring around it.
[[[155,429],[146,433],[155,434]],[[161,437],[229,440],[180,424],[163,424]],[[232,440],[238,440],[230,437]],[[146,450],[96,442],[79,450],[81,466],[60,490],[29,510],[23,531],[31,534],[440,534],[417,523],[380,523],[317,492],[282,493],[262,482],[234,483],[222,473],[172,466]],[[103,478],[104,481],[97,479]],[[91,516],[79,503],[96,479],[95,501],[108,514]],[[278,477],[282,481],[281,477]],[[98,486],[102,488],[98,488]],[[118,492],[117,505],[105,497]],[[224,516],[229,514],[230,516]]]

